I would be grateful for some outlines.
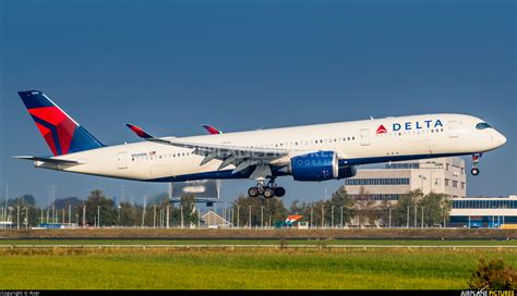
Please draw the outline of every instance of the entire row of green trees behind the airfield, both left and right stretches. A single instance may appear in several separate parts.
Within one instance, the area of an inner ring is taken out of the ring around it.
[[[402,195],[398,202],[375,201],[362,193],[352,198],[339,187],[329,199],[315,201],[293,200],[289,207],[282,199],[261,199],[240,195],[229,207],[218,212],[233,226],[273,226],[285,221],[288,214],[303,215],[302,221],[312,226],[437,226],[448,220],[450,199],[444,194],[421,190]],[[31,195],[8,200],[9,217],[21,227],[39,223],[75,223],[80,226],[185,226],[200,223],[200,212],[192,194],[183,195],[179,202],[171,202],[166,195],[158,195],[148,205],[122,201],[116,205],[101,190],[93,190],[86,200],[76,197],[57,199],[48,208],[36,207]],[[3,218],[5,211],[2,212]],[[27,222],[28,217],[28,224]],[[20,220],[19,220],[20,219]]]

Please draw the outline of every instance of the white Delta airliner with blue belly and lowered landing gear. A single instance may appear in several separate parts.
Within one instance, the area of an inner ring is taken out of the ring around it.
[[[128,124],[145,140],[105,146],[41,91],[19,95],[53,153],[16,157],[36,168],[148,182],[252,178],[252,197],[284,196],[278,176],[346,178],[357,165],[388,161],[472,155],[478,175],[482,152],[506,143],[481,119],[440,113],[224,134],[205,126],[212,135],[182,138],[158,138]]]

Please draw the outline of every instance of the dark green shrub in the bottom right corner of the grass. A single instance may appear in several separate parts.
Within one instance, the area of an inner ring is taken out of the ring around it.
[[[481,258],[478,269],[472,272],[467,282],[470,288],[476,289],[516,289],[517,271],[506,266],[503,259],[486,261]]]

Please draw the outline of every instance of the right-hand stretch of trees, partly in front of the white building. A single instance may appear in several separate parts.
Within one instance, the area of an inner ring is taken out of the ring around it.
[[[263,223],[273,225],[269,220],[278,222],[284,221],[288,214],[300,214],[303,215],[301,221],[320,227],[429,227],[444,225],[448,221],[450,206],[452,200],[446,195],[424,195],[420,189],[409,192],[398,202],[394,202],[372,200],[368,193],[352,198],[345,186],[341,186],[329,199],[293,200],[289,208],[277,198],[263,202],[257,198],[240,196],[232,205],[230,217],[231,222],[240,226],[250,225],[250,222],[251,226],[261,226]]]

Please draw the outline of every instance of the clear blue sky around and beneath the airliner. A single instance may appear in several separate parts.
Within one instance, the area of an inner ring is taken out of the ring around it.
[[[507,137],[485,153],[468,196],[517,193],[514,1],[0,1],[0,198],[45,205],[100,188],[141,201],[166,184],[33,168],[49,155],[16,91],[39,89],[107,145],[204,134],[457,112]],[[465,158],[470,165],[470,159]],[[278,180],[293,199],[342,181]],[[226,181],[232,200],[254,181]]]

